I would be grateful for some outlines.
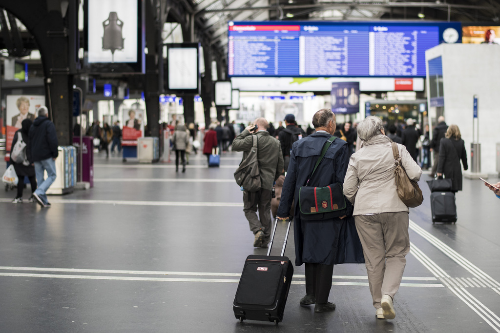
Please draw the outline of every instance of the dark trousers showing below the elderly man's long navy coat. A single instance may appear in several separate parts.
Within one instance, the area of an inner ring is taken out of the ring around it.
[[[316,296],[316,304],[328,302],[333,265],[305,263],[305,293]]]

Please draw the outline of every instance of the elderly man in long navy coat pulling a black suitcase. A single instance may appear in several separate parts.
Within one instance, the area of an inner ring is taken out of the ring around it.
[[[286,174],[281,200],[277,211],[279,219],[288,215],[293,198],[298,207],[298,191],[311,175],[314,165],[321,155],[324,143],[335,131],[335,115],[329,109],[321,109],[312,117],[316,132],[298,141],[291,148],[290,164]],[[349,163],[347,142],[335,139],[320,164],[309,185],[322,187],[333,183],[343,183]],[[348,206],[351,213],[352,207]],[[305,263],[305,297],[300,305],[315,304],[314,312],[335,310],[335,304],[328,302],[331,289],[333,264],[339,246],[339,235],[344,217],[328,220],[301,221],[298,209],[294,213],[295,265]],[[357,262],[363,262],[362,254]],[[352,262],[352,261],[351,261]]]

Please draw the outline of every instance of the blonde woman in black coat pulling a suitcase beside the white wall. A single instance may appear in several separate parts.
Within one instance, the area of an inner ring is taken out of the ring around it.
[[[439,161],[437,164],[437,176],[451,179],[451,191],[462,190],[462,161],[463,170],[467,170],[467,152],[465,144],[461,139],[460,130],[456,125],[449,125],[444,138],[439,143]]]

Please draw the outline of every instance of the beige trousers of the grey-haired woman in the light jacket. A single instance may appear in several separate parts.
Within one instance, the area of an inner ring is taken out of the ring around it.
[[[382,295],[399,289],[409,252],[408,212],[355,215],[357,234],[363,246],[373,307],[380,308]]]

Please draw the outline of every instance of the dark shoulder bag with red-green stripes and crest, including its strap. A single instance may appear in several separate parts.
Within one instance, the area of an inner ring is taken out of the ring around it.
[[[324,154],[336,138],[332,136],[324,143],[321,155],[305,186],[298,189],[298,213],[301,220],[326,220],[347,215],[347,203],[341,184],[333,183],[325,187],[307,186]]]

